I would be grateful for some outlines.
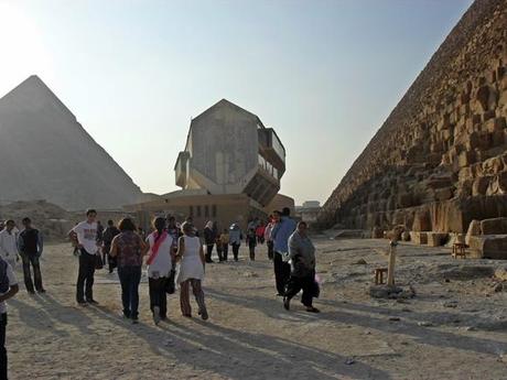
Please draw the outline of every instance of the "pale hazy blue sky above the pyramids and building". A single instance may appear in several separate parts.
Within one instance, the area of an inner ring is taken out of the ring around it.
[[[0,0],[0,96],[37,75],[143,192],[226,98],[325,202],[472,0]]]

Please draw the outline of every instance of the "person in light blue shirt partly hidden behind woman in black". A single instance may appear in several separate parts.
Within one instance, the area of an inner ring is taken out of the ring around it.
[[[295,221],[290,218],[290,209],[283,208],[282,213],[274,211],[274,227],[271,231],[274,248],[274,279],[279,296],[285,294],[285,285],[291,274],[289,264],[289,237],[295,230]]]

